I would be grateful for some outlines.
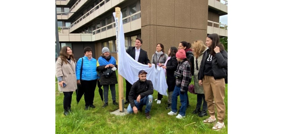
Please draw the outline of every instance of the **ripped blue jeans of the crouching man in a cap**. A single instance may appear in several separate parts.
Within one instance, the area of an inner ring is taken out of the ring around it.
[[[151,102],[149,102],[149,99],[151,99]],[[134,100],[134,102],[135,102],[135,105],[138,108],[138,110],[142,109],[142,107],[144,105],[146,105],[145,113],[148,113],[150,111],[150,109],[151,109],[152,99],[153,99],[152,95],[147,95],[144,98],[140,99],[140,103],[138,103],[137,100]],[[133,113],[134,112],[133,108],[131,107],[131,104],[129,104],[129,106],[127,108],[127,112],[128,113]]]

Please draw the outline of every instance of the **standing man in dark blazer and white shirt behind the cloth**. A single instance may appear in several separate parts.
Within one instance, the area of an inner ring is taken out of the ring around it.
[[[136,38],[135,47],[129,47],[126,50],[126,53],[128,53],[133,59],[140,62],[141,64],[149,65],[149,67],[151,67],[150,61],[147,57],[147,52],[141,49],[141,45],[142,45],[142,39]],[[129,96],[131,87],[132,87],[132,84],[130,84],[126,80],[126,102],[125,104],[129,103],[128,96]]]

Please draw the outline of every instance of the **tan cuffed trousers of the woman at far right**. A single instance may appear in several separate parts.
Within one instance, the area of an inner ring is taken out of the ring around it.
[[[217,119],[219,122],[223,122],[225,118],[225,79],[215,80],[213,76],[205,75],[202,79],[202,85],[209,114],[211,116],[215,115],[215,104]]]

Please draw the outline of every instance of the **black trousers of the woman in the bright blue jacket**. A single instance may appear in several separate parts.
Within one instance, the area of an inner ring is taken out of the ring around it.
[[[84,90],[86,106],[93,105],[94,91],[97,84],[96,80],[81,80],[82,89]]]

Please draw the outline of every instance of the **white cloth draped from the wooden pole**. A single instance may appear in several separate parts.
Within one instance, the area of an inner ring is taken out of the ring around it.
[[[126,80],[130,82],[130,84],[134,84],[138,78],[138,72],[140,70],[145,70],[147,72],[146,79],[151,80],[153,84],[154,90],[158,91],[161,95],[167,95],[168,85],[166,83],[165,72],[164,69],[157,66],[155,69],[155,65],[153,64],[151,68],[148,65],[144,65],[135,61],[128,53],[126,53],[125,49],[125,37],[122,23],[122,12],[120,17],[120,31],[118,34],[118,18],[115,17],[116,13],[113,13],[116,22],[116,44],[117,44],[117,53],[118,53],[118,73],[123,76]],[[117,36],[118,34],[118,36]]]

